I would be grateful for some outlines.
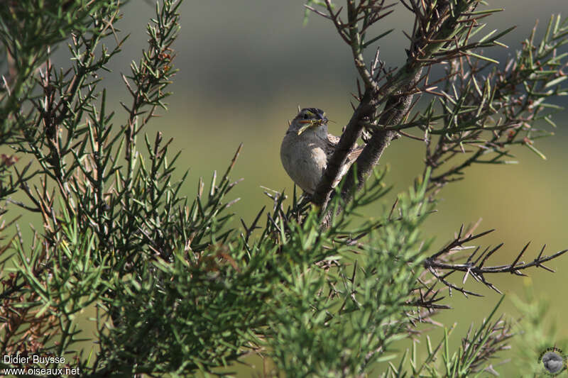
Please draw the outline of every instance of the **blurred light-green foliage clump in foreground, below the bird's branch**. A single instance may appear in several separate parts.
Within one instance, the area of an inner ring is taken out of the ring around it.
[[[383,216],[351,231],[368,234],[368,244],[358,255],[344,243],[319,254],[322,241],[339,240],[349,229],[348,219],[359,206],[385,194],[378,183],[356,198],[326,233],[313,216],[302,227],[291,225],[282,253],[301,260],[290,267],[286,287],[275,296],[278,307],[269,339],[286,376],[351,377],[390,358],[386,353],[391,344],[410,327],[409,293],[427,249],[418,238],[418,227],[431,208],[424,204],[425,182],[400,196],[400,218]],[[318,260],[314,266],[312,261]]]

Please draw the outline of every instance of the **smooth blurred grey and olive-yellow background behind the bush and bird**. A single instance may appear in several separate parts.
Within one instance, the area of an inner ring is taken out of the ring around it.
[[[151,136],[162,131],[165,138],[173,138],[171,151],[181,150],[178,176],[182,169],[190,169],[185,187],[190,197],[195,194],[198,178],[204,177],[207,182],[214,169],[224,171],[239,143],[244,143],[232,175],[233,179],[244,177],[244,182],[232,195],[241,198],[234,211],[246,223],[263,205],[271,204],[261,186],[286,189],[288,193],[293,188],[280,165],[279,148],[287,120],[295,116],[297,105],[324,109],[336,121],[330,126],[335,134],[339,134],[350,116],[349,93],[356,91],[356,72],[349,48],[332,24],[319,16],[310,16],[307,26],[303,26],[303,3],[302,0],[186,0],[182,4],[180,38],[175,44],[178,52],[175,66],[180,72],[170,87],[174,94],[168,99],[169,111],[162,112],[163,116],[155,118],[146,129]],[[508,49],[486,52],[501,62],[520,47],[537,19],[540,20],[537,35],[542,35],[552,13],[568,10],[566,0],[494,1],[490,7],[503,7],[505,11],[485,18],[487,32],[518,26],[502,39]],[[117,112],[115,123],[126,120],[119,101],[130,102],[119,75],[128,74],[129,62],[138,60],[141,50],[146,48],[146,22],[153,12],[148,2],[131,1],[124,6],[124,19],[116,24],[120,35],[131,33],[131,37],[123,53],[108,66],[112,72],[104,74],[103,84],[109,89],[109,98]],[[404,61],[404,48],[408,45],[402,30],[412,30],[410,13],[400,4],[374,31],[381,33],[390,28],[395,31],[381,40],[381,59],[387,66],[395,67]],[[67,59],[67,50],[62,46],[56,60],[68,67]],[[557,104],[566,106],[567,101],[559,99]],[[435,236],[435,246],[441,246],[459,230],[461,223],[483,218],[478,230],[496,228],[496,232],[481,240],[482,245],[505,243],[491,257],[492,265],[511,262],[530,240],[525,260],[532,260],[545,243],[549,255],[568,248],[566,119],[566,111],[559,113],[555,118],[559,126],[555,130],[557,135],[537,143],[547,155],[546,161],[519,148],[514,152],[520,164],[473,167],[463,181],[447,186],[440,194],[438,212],[424,228],[425,237]],[[390,206],[395,194],[412,184],[413,178],[422,172],[423,156],[424,145],[420,142],[403,138],[392,143],[381,165],[390,169],[387,184],[393,185],[393,191],[383,204],[368,209],[367,216]],[[568,305],[563,289],[567,286],[568,257],[548,266],[558,273],[532,269],[529,274],[537,295],[552,301],[547,322],[559,322],[559,333],[566,337],[568,325],[563,319]],[[519,277],[502,274],[488,279],[507,294],[522,293],[523,279]],[[454,294],[445,301],[454,309],[437,318],[447,326],[454,321],[459,323],[454,331],[454,345],[470,323],[479,322],[498,300],[498,295],[486,287],[471,284],[470,288],[485,296],[464,299],[461,294]],[[513,318],[520,316],[510,296],[501,311]],[[539,353],[540,350],[535,351],[535,363]],[[506,372],[513,374],[514,364],[509,364]],[[251,370],[247,369],[240,373],[243,377],[249,374]]]

